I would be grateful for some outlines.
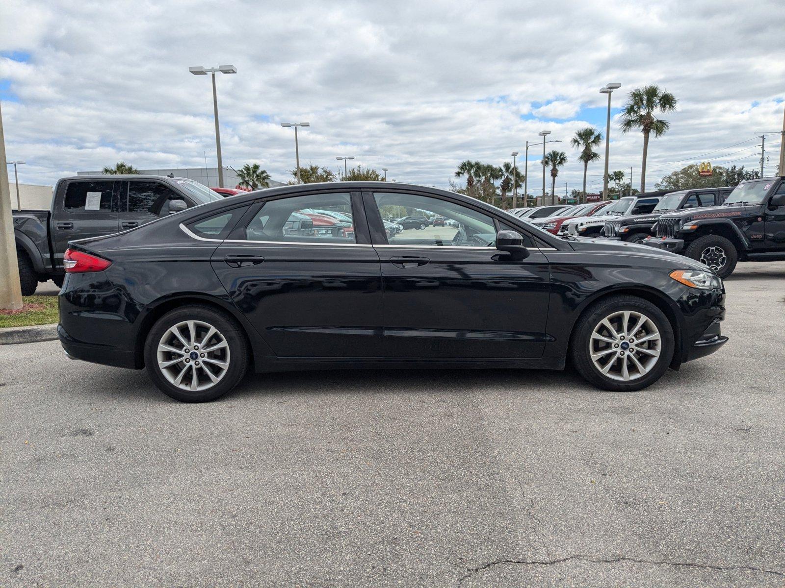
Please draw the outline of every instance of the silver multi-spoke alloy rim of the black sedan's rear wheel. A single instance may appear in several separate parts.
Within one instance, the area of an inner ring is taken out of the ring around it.
[[[225,336],[204,321],[182,321],[161,337],[158,367],[173,386],[195,392],[214,387],[229,368]]]

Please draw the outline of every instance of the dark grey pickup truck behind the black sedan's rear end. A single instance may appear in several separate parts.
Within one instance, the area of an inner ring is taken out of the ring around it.
[[[13,212],[22,295],[39,281],[62,285],[68,241],[117,233],[221,200],[210,188],[172,176],[73,176],[58,180],[49,210]]]

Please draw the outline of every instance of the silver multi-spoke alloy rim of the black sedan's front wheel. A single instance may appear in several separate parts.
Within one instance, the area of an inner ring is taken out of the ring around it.
[[[662,339],[651,318],[634,310],[619,310],[594,327],[589,354],[594,367],[624,382],[651,372],[659,361]]]

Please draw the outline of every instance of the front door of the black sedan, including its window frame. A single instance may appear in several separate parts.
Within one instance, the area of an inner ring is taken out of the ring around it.
[[[385,355],[395,358],[539,358],[550,292],[546,256],[511,260],[495,249],[499,220],[444,195],[364,191],[382,263]],[[438,214],[458,227],[404,229],[387,238],[396,206]],[[519,231],[520,232],[520,231]]]

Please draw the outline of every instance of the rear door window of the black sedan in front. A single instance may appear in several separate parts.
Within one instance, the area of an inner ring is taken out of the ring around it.
[[[351,197],[340,192],[267,201],[245,236],[249,241],[356,243]]]

